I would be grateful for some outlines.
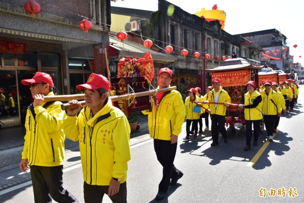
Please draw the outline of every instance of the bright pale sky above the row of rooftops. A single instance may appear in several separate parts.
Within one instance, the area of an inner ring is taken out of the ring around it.
[[[225,31],[231,35],[259,31],[264,29],[277,29],[287,37],[290,54],[294,55],[294,62],[304,59],[304,1],[283,0],[168,0],[184,11],[195,14],[201,8],[211,10],[217,4],[219,10],[226,12]],[[111,2],[111,6],[158,10],[158,0],[124,0]],[[293,45],[297,44],[297,48]],[[302,55],[301,58],[299,56]]]

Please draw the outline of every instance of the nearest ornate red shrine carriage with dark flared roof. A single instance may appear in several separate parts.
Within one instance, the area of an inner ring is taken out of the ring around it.
[[[247,92],[245,85],[248,81],[255,81],[258,85],[258,71],[263,66],[254,66],[248,63],[243,58],[226,59],[218,67],[214,69],[207,69],[212,78],[219,78],[221,86],[226,90],[230,97],[232,104],[242,104],[244,94]],[[226,110],[226,126],[235,130],[235,124],[245,124],[245,115],[243,110],[238,110],[237,106],[229,106]],[[260,131],[264,130],[264,122],[260,123]]]

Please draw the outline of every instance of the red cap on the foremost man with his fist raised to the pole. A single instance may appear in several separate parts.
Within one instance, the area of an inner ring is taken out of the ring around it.
[[[105,89],[106,91],[109,91],[110,83],[106,77],[103,75],[98,75],[95,73],[92,73],[87,81],[86,84],[82,85],[76,85],[77,89]]]

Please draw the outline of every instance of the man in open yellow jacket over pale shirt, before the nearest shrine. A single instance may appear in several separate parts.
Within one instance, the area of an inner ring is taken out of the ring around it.
[[[228,142],[227,130],[225,128],[225,120],[227,103],[231,103],[231,98],[229,94],[220,86],[219,78],[213,78],[212,85],[213,89],[208,94],[208,101],[210,103],[223,103],[209,105],[211,111],[211,146],[215,146],[218,145],[218,131],[220,131],[220,133],[222,134],[224,143]]]

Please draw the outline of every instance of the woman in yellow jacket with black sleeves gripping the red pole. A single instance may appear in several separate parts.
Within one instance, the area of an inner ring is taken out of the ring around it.
[[[254,81],[249,81],[245,88],[248,92],[244,95],[244,105],[239,105],[240,109],[244,109],[246,123],[246,147],[245,151],[251,149],[251,136],[253,124],[253,146],[257,146],[259,124],[262,116],[262,96],[256,90]]]

